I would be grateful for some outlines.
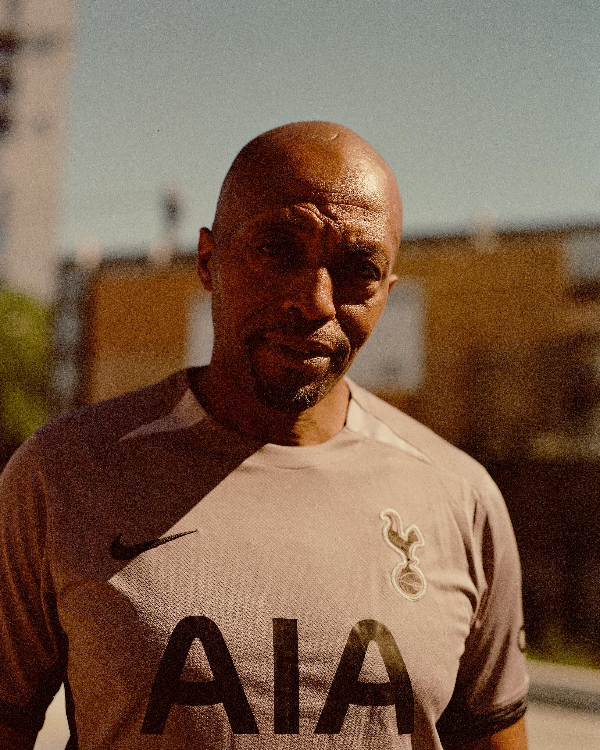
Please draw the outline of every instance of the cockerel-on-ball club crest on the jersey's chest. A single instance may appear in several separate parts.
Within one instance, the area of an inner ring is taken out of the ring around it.
[[[425,595],[427,590],[427,581],[419,568],[419,557],[415,554],[416,548],[425,544],[421,529],[412,523],[405,531],[400,514],[393,508],[381,511],[380,518],[384,522],[384,541],[400,555],[400,562],[392,570],[394,588],[404,598],[416,601]]]

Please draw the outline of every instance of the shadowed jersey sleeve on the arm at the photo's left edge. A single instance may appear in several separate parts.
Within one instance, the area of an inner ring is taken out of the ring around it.
[[[35,731],[65,676],[37,437],[0,475],[0,723]]]

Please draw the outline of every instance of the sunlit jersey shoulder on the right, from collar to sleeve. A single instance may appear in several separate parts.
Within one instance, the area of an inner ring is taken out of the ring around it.
[[[347,379],[353,400],[375,419],[383,422],[393,433],[398,435],[416,455],[428,460],[434,466],[452,472],[474,485],[480,493],[487,493],[490,487],[490,476],[477,460],[461,451],[452,443],[444,440],[433,430],[413,417],[374,395],[370,391]]]

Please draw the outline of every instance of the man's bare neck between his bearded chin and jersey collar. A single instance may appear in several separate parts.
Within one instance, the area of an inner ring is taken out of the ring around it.
[[[252,440],[281,446],[317,446],[329,440],[344,427],[350,401],[348,386],[340,380],[314,407],[281,412],[248,395],[214,359],[192,386],[217,422]]]

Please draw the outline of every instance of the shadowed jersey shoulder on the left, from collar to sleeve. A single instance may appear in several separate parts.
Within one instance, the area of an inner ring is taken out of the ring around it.
[[[37,431],[52,454],[94,449],[168,415],[188,389],[187,372],[59,416]]]

